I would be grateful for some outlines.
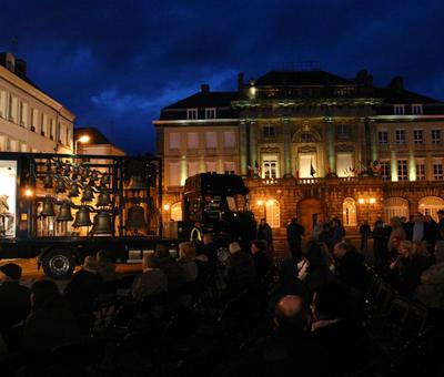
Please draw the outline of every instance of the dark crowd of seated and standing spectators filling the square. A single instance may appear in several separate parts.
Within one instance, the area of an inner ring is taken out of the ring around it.
[[[360,227],[361,251],[345,238],[337,218],[319,220],[311,235],[292,218],[289,257],[280,261],[273,257],[273,233],[265,220],[248,248],[240,242],[221,247],[211,233],[181,243],[178,255],[159,244],[144,255],[142,273],[127,281],[128,294],[113,320],[138,320],[137,332],[152,329],[153,323],[175,328],[162,346],[174,368],[165,373],[162,366],[163,375],[357,374],[372,358],[364,326],[369,266],[363,252],[369,241],[373,238],[374,265],[383,278],[401,294],[442,313],[443,213],[440,216],[438,224],[421,214],[408,222],[394,217],[390,225],[377,221],[373,230],[365,222]],[[63,292],[46,278],[28,289],[20,285],[20,275],[16,264],[0,266],[0,354],[11,376],[23,363],[38,370],[36,365],[54,349],[94,337],[98,309],[117,305],[122,287],[103,251],[84,259]],[[154,306],[161,308],[155,315]],[[180,318],[181,330],[171,326]],[[202,336],[202,327],[211,336]],[[142,348],[148,339],[157,347],[165,339],[165,332],[141,334]],[[186,353],[181,348],[175,354],[174,347],[183,342]],[[151,367],[167,363],[162,357],[158,355]]]

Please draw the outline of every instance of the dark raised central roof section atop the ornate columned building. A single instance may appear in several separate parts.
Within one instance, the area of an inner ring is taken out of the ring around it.
[[[270,71],[255,81],[256,86],[353,85],[354,82],[325,71]]]

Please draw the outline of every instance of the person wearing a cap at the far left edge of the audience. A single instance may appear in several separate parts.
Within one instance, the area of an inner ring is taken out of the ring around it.
[[[20,285],[21,267],[14,263],[0,266],[0,332],[23,322],[30,310],[30,291]]]

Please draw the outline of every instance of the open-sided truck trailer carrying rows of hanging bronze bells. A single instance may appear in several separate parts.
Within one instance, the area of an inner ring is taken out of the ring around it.
[[[53,278],[100,249],[119,263],[176,253],[160,208],[160,159],[0,153],[0,258],[37,258]]]

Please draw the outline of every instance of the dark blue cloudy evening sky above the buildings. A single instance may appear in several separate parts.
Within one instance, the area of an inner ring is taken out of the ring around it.
[[[235,90],[284,62],[444,100],[442,0],[0,0],[0,44],[14,35],[31,80],[129,153],[153,152],[152,120],[201,83]]]

